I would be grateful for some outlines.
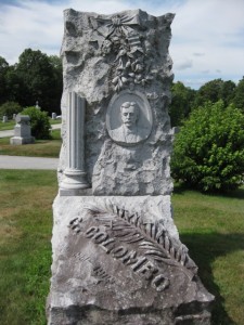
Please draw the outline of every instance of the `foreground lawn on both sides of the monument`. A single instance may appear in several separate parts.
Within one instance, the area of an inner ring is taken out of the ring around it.
[[[44,325],[55,171],[0,170],[0,324]],[[181,240],[216,296],[213,324],[244,324],[244,188],[231,196],[176,187]]]

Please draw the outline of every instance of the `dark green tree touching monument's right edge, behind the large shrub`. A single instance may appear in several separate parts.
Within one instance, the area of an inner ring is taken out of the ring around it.
[[[172,84],[172,101],[169,105],[171,127],[179,127],[188,118],[196,91],[177,81]]]

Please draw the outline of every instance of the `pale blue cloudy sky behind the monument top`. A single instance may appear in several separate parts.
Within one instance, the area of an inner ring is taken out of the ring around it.
[[[175,81],[198,89],[213,79],[237,82],[244,76],[244,0],[0,0],[0,56],[13,64],[27,48],[59,55],[67,8],[176,13],[169,48]]]

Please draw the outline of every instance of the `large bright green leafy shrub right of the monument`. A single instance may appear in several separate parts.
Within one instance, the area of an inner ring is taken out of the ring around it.
[[[244,181],[244,115],[223,102],[195,109],[176,134],[171,174],[203,191],[226,191]]]

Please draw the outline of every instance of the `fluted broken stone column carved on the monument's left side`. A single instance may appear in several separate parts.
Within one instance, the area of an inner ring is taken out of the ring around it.
[[[67,144],[65,178],[61,183],[61,195],[74,195],[74,191],[89,187],[85,171],[85,109],[86,100],[75,92],[68,93]],[[74,190],[74,191],[73,191]]]

